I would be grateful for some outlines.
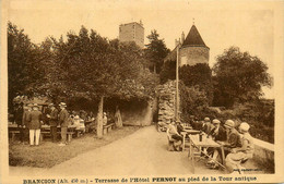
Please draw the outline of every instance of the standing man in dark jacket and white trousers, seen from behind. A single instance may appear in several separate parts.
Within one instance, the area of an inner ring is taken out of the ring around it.
[[[38,146],[39,144],[39,135],[40,127],[43,123],[43,113],[39,111],[37,103],[34,103],[33,111],[28,115],[29,124],[29,144],[33,146],[34,144]],[[34,142],[35,138],[35,142]]]

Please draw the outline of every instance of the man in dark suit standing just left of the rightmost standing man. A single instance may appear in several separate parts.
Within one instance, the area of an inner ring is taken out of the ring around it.
[[[50,114],[47,114],[47,118],[49,119],[50,136],[51,136],[52,143],[56,143],[57,142],[58,110],[56,109],[54,103],[50,103],[49,108],[50,108]]]

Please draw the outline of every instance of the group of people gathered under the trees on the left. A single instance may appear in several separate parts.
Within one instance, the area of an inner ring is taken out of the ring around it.
[[[58,126],[60,126],[61,140],[59,146],[66,146],[68,144],[67,133],[70,124],[75,125],[82,131],[85,128],[82,119],[78,114],[70,115],[66,108],[67,105],[64,102],[59,103],[59,109],[57,109],[54,103],[49,103],[48,112],[45,114],[48,119],[50,136],[54,143],[58,142],[57,132]],[[19,105],[14,116],[14,121],[20,130],[20,140],[25,143],[28,139],[27,137],[29,137],[29,145],[38,146],[40,128],[43,128],[42,126],[44,124],[44,115],[39,106],[37,103],[27,103],[24,107],[23,105]],[[72,121],[72,123],[70,121]]]

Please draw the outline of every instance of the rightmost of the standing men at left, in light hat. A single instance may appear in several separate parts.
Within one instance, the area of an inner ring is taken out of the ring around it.
[[[69,124],[69,113],[66,110],[67,105],[64,102],[61,102],[59,105],[60,112],[59,112],[59,124],[61,126],[61,143],[59,146],[66,146],[67,145],[67,126]]]

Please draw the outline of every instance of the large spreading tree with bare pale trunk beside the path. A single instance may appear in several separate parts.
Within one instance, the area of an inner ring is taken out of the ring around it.
[[[104,98],[149,98],[151,83],[146,79],[152,76],[144,71],[142,50],[134,44],[109,41],[83,26],[79,35],[69,33],[67,37],[66,42],[56,42],[55,53],[62,72],[61,94],[98,99],[97,136],[102,137]]]

